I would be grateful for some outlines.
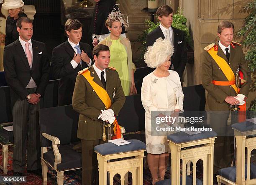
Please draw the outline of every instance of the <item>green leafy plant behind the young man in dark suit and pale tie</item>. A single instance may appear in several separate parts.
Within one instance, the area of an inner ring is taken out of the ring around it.
[[[177,11],[179,13],[176,13],[173,15],[173,21],[172,21],[172,26],[174,28],[177,28],[179,30],[183,30],[185,33],[185,39],[187,42],[188,46],[192,47],[192,40],[190,38],[189,35],[189,29],[187,28],[187,18],[183,15],[183,11]],[[141,42],[142,45],[138,48],[137,52],[140,51],[141,55],[138,58],[137,62],[139,61],[144,61],[144,54],[146,52],[146,36],[148,33],[150,33],[151,31],[153,31],[154,29],[156,29],[157,26],[159,26],[160,22],[155,24],[153,22],[151,22],[150,20],[145,20],[145,25],[148,27],[148,29],[143,30],[143,33],[141,35],[138,35],[138,42]]]

